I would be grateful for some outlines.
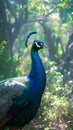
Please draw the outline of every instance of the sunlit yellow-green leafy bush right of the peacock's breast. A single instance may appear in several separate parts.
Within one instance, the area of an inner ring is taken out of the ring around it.
[[[73,119],[73,103],[68,96],[70,91],[70,86],[63,86],[63,75],[57,71],[55,64],[50,62],[46,91],[40,108],[42,112],[40,113],[42,114],[42,120],[45,123],[51,123],[51,127],[53,127],[53,123],[55,123],[55,126],[59,126],[65,122],[65,119],[67,119],[66,121]]]

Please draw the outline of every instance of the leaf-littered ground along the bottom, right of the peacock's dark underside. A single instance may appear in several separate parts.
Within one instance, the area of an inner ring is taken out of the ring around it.
[[[37,115],[22,130],[70,130],[70,129],[68,128],[67,121],[65,121],[64,123],[60,123],[60,124],[58,124],[56,120],[42,123],[41,118]]]

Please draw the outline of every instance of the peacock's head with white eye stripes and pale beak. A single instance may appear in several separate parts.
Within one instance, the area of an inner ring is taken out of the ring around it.
[[[35,51],[38,51],[38,50],[42,49],[43,47],[47,47],[47,45],[40,40],[34,40],[32,48]]]

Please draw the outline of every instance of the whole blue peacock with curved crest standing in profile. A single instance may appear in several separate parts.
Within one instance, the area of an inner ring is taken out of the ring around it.
[[[26,38],[27,47],[28,39]],[[18,130],[28,124],[40,107],[42,94],[46,86],[44,65],[38,51],[47,47],[40,40],[34,40],[31,46],[31,69],[26,77],[15,77],[0,81],[0,130],[9,127]]]

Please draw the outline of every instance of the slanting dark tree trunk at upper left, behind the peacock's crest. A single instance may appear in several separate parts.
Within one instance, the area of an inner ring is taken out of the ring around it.
[[[15,42],[15,39],[19,33],[19,30],[23,24],[26,24],[28,20],[28,1],[22,1],[22,5],[25,5],[24,11],[19,15],[18,18],[16,18],[15,23],[8,23],[7,26],[7,47],[9,52],[12,52],[13,44]],[[12,10],[10,10],[12,12]],[[15,12],[16,13],[16,12]],[[14,14],[14,17],[16,17],[16,14]]]

